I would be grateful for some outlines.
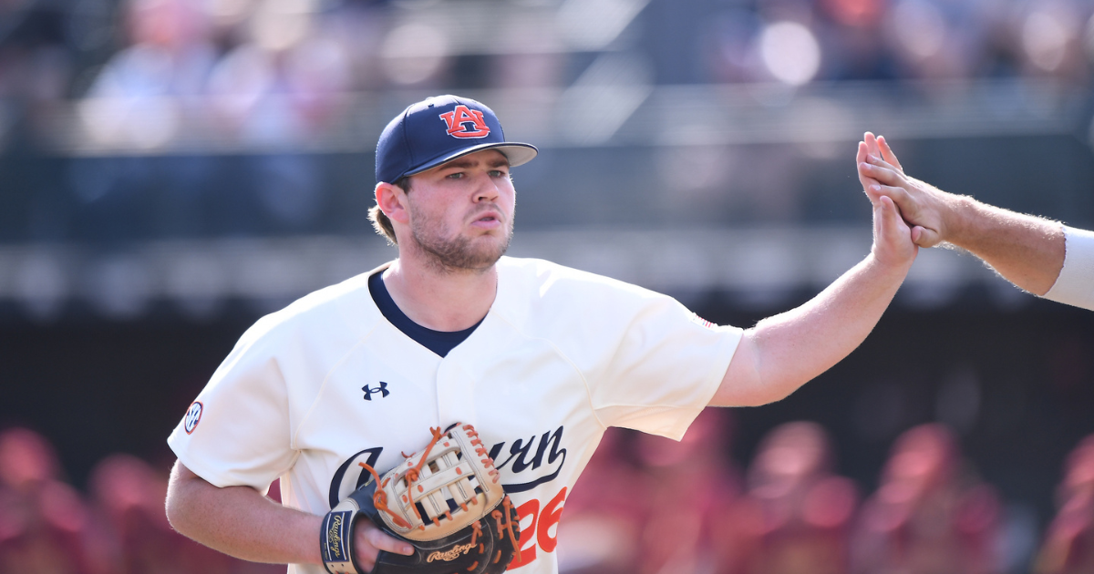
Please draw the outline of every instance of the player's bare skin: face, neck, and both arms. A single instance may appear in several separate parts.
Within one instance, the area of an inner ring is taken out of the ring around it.
[[[381,181],[375,195],[398,239],[398,259],[383,277],[399,309],[442,331],[482,320],[498,293],[494,263],[513,233],[516,194],[505,156],[468,154],[412,176],[409,191]],[[896,204],[876,199],[870,255],[806,304],[742,333],[711,405],[780,400],[846,356],[888,306],[916,251]],[[178,531],[246,560],[321,563],[314,540],[322,516],[280,506],[249,487],[217,488],[182,464],[172,475],[167,516]],[[368,522],[353,544],[364,570],[382,550],[410,553]]]

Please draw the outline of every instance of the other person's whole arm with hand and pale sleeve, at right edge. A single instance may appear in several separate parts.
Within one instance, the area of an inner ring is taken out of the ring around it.
[[[871,201],[887,197],[921,247],[968,250],[1019,288],[1094,309],[1094,232],[942,191],[904,173],[884,137],[859,142],[859,178]]]

